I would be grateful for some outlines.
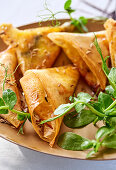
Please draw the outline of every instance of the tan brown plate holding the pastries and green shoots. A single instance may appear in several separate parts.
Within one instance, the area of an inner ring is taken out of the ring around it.
[[[64,23],[67,20],[60,20],[61,23]],[[47,26],[51,22],[42,22],[41,26]],[[103,30],[103,25],[101,22],[93,22],[90,21],[88,23],[89,31],[99,31]],[[38,23],[33,23],[29,25],[24,25],[19,27],[19,29],[28,29],[28,28],[36,28],[38,27]],[[0,39],[0,51],[3,51],[6,48],[6,45]],[[80,80],[81,82],[82,80]],[[85,87],[86,86],[86,87]],[[87,88],[89,91],[89,87],[83,82],[83,85],[78,85],[78,88]],[[80,129],[69,129],[65,127],[64,124],[61,126],[60,134],[66,131],[71,131],[74,133],[81,134],[83,137],[94,139],[94,134],[97,130],[97,127],[94,127],[92,124],[86,126],[85,128]],[[78,159],[86,159],[86,154],[88,151],[67,151],[59,148],[57,144],[54,145],[53,148],[49,147],[48,143],[44,142],[39,138],[39,136],[33,130],[33,127],[30,122],[26,122],[24,127],[24,135],[18,135],[18,130],[12,127],[11,125],[0,123],[0,136],[13,142],[18,145],[24,146],[26,148],[63,157],[69,158],[78,158]],[[57,143],[57,142],[56,142]],[[97,160],[106,160],[106,159],[115,159],[116,158],[116,150],[112,149],[103,149],[101,152],[94,158]]]

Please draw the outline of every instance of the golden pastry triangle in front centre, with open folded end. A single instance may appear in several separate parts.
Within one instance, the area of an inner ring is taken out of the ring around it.
[[[54,110],[69,102],[79,79],[73,66],[40,70],[28,70],[20,83],[31,114],[32,125],[43,140],[53,146],[62,118],[39,125],[42,120],[53,117]]]

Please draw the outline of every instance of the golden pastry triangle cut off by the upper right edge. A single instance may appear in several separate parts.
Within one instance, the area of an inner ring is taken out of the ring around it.
[[[116,67],[116,21],[110,18],[105,22],[104,27],[109,42],[112,67]]]

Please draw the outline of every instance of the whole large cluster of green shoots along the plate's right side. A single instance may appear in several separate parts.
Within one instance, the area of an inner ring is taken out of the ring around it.
[[[70,97],[70,103],[60,105],[51,119],[43,120],[41,124],[53,121],[64,116],[64,123],[70,128],[79,128],[93,122],[103,121],[105,126],[98,129],[95,139],[85,139],[72,132],[65,132],[59,137],[58,145],[67,150],[87,150],[93,148],[87,158],[99,151],[100,147],[116,149],[116,68],[109,69],[106,60],[103,58],[101,48],[98,44],[96,35],[94,45],[102,59],[102,69],[109,80],[105,93],[100,92],[96,100],[88,93],[80,92],[77,97]],[[74,109],[73,112],[69,111]]]

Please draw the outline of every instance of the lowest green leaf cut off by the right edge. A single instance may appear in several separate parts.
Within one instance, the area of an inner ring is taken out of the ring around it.
[[[107,136],[103,140],[102,146],[107,147],[107,148],[116,149],[116,134],[114,134],[112,136]]]

